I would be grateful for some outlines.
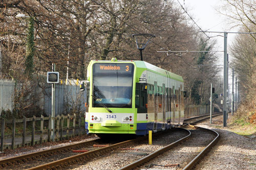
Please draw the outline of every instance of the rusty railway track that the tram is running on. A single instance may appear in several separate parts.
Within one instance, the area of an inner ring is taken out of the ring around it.
[[[168,130],[169,133],[172,133],[174,130]],[[182,130],[186,131],[186,130]],[[153,135],[154,138],[161,135],[161,133],[156,133]],[[109,146],[93,149],[85,153],[73,153],[72,150],[86,150],[90,145],[102,144],[100,139],[82,142],[78,144],[73,144],[65,147],[60,147],[56,149],[51,149],[47,151],[40,151],[36,153],[26,154],[22,156],[17,156],[13,158],[7,158],[0,161],[2,169],[51,169],[51,168],[64,168],[79,162],[85,162],[92,158],[102,156],[111,151],[119,152],[118,148],[129,147],[136,145],[136,143],[147,143],[147,136],[139,137],[133,140],[127,140],[119,143],[103,143],[108,144]]]

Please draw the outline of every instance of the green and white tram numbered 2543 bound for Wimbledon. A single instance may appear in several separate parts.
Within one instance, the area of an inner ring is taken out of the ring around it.
[[[145,61],[92,60],[87,72],[86,129],[145,135],[184,119],[181,76]]]

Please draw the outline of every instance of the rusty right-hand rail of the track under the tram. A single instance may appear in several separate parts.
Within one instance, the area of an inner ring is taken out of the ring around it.
[[[29,168],[29,170],[32,170],[32,169],[58,168],[58,167],[61,167],[61,166],[66,166],[69,163],[75,163],[75,162],[77,162],[79,160],[82,161],[82,160],[86,159],[87,157],[98,155],[101,152],[106,152],[106,151],[114,150],[115,148],[121,147],[122,145],[133,143],[133,142],[136,142],[136,141],[139,141],[139,140],[145,140],[146,138],[147,138],[147,136],[143,136],[143,137],[140,137],[140,138],[137,138],[137,139],[119,142],[119,143],[116,143],[116,144],[112,144],[109,147],[104,147],[104,148],[96,149],[96,150],[89,151],[89,152],[86,152],[86,153],[82,153],[82,154],[74,155],[74,156],[71,156],[71,157],[68,157],[68,158],[63,158],[63,159],[60,159],[60,160],[57,160],[57,161],[53,161],[53,162],[50,162],[50,163],[47,163],[47,164],[43,164],[43,165],[39,165],[39,166],[36,166],[36,167],[32,167],[32,168]]]

